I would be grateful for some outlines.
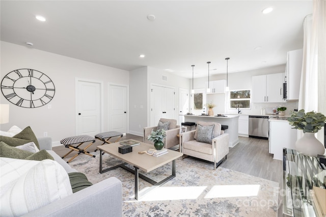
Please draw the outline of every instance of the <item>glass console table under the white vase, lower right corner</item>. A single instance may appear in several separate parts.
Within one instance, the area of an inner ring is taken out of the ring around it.
[[[318,217],[311,194],[313,186],[326,189],[326,166],[318,158],[284,148],[283,213],[295,217]]]

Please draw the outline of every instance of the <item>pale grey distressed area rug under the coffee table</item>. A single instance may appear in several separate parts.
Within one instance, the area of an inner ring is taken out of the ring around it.
[[[78,156],[70,166],[87,175],[92,183],[115,176],[123,185],[124,216],[277,216],[279,183],[218,167],[192,158],[176,160],[176,177],[134,199],[134,175],[123,168],[99,173],[96,158]],[[154,157],[153,157],[154,158]],[[103,156],[103,169],[121,163]],[[140,173],[143,173],[140,171]],[[172,173],[172,162],[146,176],[160,181]],[[144,174],[144,173],[143,173]],[[139,189],[152,185],[140,178]]]

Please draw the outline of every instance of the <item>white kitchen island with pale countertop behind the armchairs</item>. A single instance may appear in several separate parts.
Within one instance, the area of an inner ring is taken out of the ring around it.
[[[229,147],[234,147],[239,142],[238,136],[238,119],[239,115],[226,115],[223,116],[204,116],[204,115],[184,115],[185,122],[205,121],[216,122],[221,125],[227,125],[229,128],[225,130],[225,133],[229,134]]]

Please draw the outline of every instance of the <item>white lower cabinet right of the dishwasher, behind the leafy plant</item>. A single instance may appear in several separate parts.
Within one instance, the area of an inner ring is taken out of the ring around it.
[[[295,149],[297,130],[287,120],[269,120],[269,153],[283,160],[283,148]]]

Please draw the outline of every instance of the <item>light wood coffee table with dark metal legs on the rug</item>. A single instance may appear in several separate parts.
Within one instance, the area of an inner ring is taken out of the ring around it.
[[[122,167],[123,169],[134,173],[134,195],[135,195],[135,199],[138,200],[141,197],[143,197],[145,194],[147,194],[149,191],[159,187],[160,185],[166,183],[167,181],[171,180],[172,178],[175,177],[176,175],[176,163],[175,160],[177,158],[182,157],[183,153],[178,152],[178,151],[174,151],[174,150],[168,150],[169,153],[164,154],[160,157],[154,157],[154,156],[150,156],[146,153],[144,154],[140,154],[138,153],[139,151],[144,151],[144,150],[148,150],[150,148],[154,148],[153,145],[151,144],[147,144],[144,142],[140,142],[140,145],[136,145],[132,147],[132,152],[129,153],[119,153],[119,146],[122,146],[119,142],[115,142],[115,143],[111,143],[111,144],[105,144],[105,145],[101,145],[101,146],[97,146],[97,148],[100,150],[100,173],[104,173],[113,169],[116,169],[118,167]],[[125,162],[123,164],[119,164],[110,168],[106,168],[103,169],[102,168],[102,153],[108,153],[111,156]],[[163,166],[169,162],[172,161],[172,175],[168,176],[167,178],[157,182],[154,181],[153,179],[140,174],[139,173],[139,169],[143,170],[144,172],[150,172],[160,166]],[[129,167],[126,167],[125,165],[132,165],[134,167],[133,169],[130,169]],[[141,194],[139,193],[139,178],[142,178],[144,180],[146,180],[147,182],[153,184],[153,186],[151,188],[149,188],[148,190],[146,190],[145,192],[142,192]]]

